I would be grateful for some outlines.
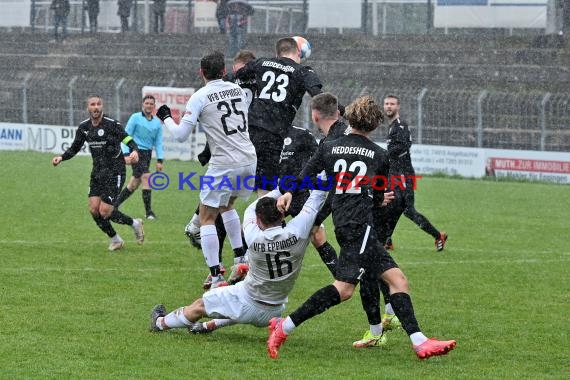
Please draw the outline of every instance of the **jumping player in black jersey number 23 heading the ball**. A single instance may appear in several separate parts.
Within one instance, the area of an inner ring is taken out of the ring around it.
[[[276,58],[259,58],[237,71],[236,78],[255,79],[257,98],[249,108],[249,135],[257,153],[256,187],[261,196],[275,187],[283,139],[292,126],[306,92],[322,92],[321,80],[309,66],[302,66],[297,42],[281,38]]]

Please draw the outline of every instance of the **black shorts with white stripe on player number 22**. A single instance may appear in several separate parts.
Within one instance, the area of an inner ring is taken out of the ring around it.
[[[356,285],[365,272],[379,276],[388,269],[398,268],[371,226],[341,227],[335,229],[335,234],[340,245],[335,279]]]

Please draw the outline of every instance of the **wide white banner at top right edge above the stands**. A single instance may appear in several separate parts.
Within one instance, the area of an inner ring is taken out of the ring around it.
[[[548,0],[436,0],[436,28],[546,28]]]

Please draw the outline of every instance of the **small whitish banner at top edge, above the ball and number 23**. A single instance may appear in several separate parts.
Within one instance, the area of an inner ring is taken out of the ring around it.
[[[361,0],[309,0],[309,28],[360,28]]]

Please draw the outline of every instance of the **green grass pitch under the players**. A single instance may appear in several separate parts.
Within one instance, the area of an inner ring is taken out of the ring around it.
[[[202,294],[207,268],[183,234],[198,194],[172,182],[178,172],[202,172],[199,165],[167,161],[171,185],[153,192],[159,219],[145,222],[144,245],[129,227],[116,226],[127,245],[110,253],[87,209],[90,158],[53,168],[48,154],[0,157],[0,378],[565,379],[570,373],[566,186],[418,181],[417,209],[448,232],[448,246],[435,252],[432,238],[403,219],[393,254],[410,280],[423,331],[457,340],[449,355],[416,359],[402,331],[390,333],[386,348],[353,349],[367,328],[356,294],[307,321],[271,360],[266,329],[148,332],[154,304],[171,310]],[[122,210],[143,216],[140,190]],[[336,246],[330,222],[327,231]],[[224,261],[231,265],[228,242]],[[310,247],[288,311],[330,282]]]

